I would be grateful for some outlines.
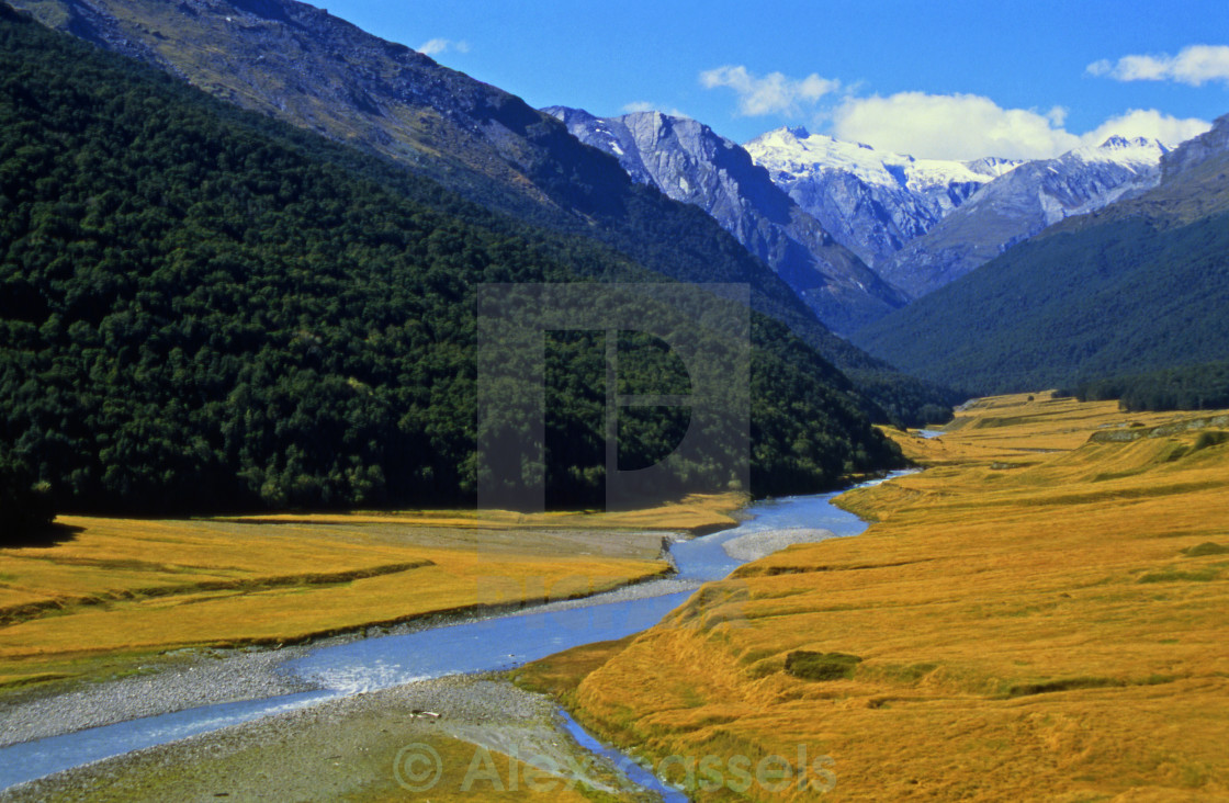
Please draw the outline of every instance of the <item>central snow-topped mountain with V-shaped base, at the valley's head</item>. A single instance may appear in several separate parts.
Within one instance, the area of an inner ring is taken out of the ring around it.
[[[745,147],[778,187],[873,268],[1021,163],[914,158],[804,128],[775,129]]]

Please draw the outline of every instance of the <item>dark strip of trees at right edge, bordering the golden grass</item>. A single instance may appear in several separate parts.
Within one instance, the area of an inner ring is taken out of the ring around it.
[[[1123,410],[1223,410],[1229,408],[1229,361],[1083,382],[1064,393],[1080,402],[1117,399]]]

